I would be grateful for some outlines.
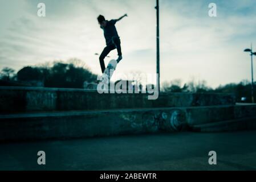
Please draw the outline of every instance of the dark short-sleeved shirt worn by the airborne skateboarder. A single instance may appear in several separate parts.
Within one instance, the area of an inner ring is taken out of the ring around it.
[[[100,28],[102,28],[104,31],[104,37],[105,37],[107,46],[112,44],[113,36],[119,37],[119,35],[117,34],[117,31],[116,31],[115,24],[116,24],[116,20],[112,19],[110,21],[107,20],[107,25],[105,27],[100,26]]]

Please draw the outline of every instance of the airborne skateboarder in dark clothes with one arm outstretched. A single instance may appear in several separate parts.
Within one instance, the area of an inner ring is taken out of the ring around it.
[[[104,58],[105,58],[105,56],[108,55],[108,53],[110,51],[112,51],[113,49],[117,49],[117,53],[118,53],[118,59],[116,60],[117,63],[119,63],[119,61],[121,61],[121,59],[123,59],[122,52],[121,52],[121,46],[120,46],[121,42],[120,42],[119,35],[117,34],[115,24],[119,20],[123,19],[125,16],[127,16],[127,14],[121,16],[119,19],[112,19],[109,21],[105,20],[103,15],[99,15],[97,17],[97,20],[100,24],[100,28],[102,28],[104,31],[104,37],[105,37],[106,44],[107,44],[107,46],[103,49],[103,51],[100,55],[100,58],[99,58],[102,73],[105,70]]]

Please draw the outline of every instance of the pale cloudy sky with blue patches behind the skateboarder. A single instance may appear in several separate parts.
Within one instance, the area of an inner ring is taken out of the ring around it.
[[[39,17],[38,3],[46,5]],[[0,0],[0,69],[34,66],[54,60],[82,60],[101,74],[105,47],[97,16],[117,19],[123,60],[116,75],[156,72],[155,0]],[[217,17],[208,15],[216,3]],[[249,53],[255,45],[255,0],[160,0],[160,82],[205,80],[216,88],[251,80]],[[109,53],[105,64],[117,59]],[[254,57],[256,60],[256,57]],[[254,69],[256,68],[254,61]],[[256,69],[255,69],[256,71]],[[118,78],[118,77],[117,77]]]

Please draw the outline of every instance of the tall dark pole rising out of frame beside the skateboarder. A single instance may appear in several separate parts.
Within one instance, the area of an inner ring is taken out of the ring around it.
[[[159,0],[156,0],[156,73],[157,77],[157,85],[159,86],[160,92],[160,46],[159,46]]]

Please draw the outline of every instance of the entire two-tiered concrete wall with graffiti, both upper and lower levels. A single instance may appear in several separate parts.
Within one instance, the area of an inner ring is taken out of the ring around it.
[[[188,131],[198,125],[209,130],[225,121],[234,130],[253,129],[253,117],[256,105],[237,106],[230,94],[161,93],[148,100],[148,94],[0,87],[1,142]]]

